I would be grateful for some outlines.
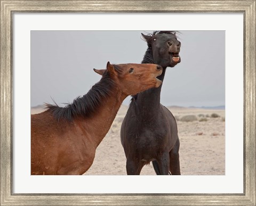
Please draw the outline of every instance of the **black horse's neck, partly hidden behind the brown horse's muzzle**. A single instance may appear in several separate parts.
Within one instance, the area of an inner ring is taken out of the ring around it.
[[[155,63],[150,48],[146,51],[141,63]],[[164,80],[165,70],[166,67],[163,68],[162,75],[157,77],[161,81]],[[158,88],[151,88],[141,92],[135,97],[137,114],[140,114],[140,117],[146,121],[151,121],[159,113],[161,89],[162,85]]]

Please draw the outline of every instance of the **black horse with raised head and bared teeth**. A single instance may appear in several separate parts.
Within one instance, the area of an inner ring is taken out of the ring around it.
[[[143,35],[148,44],[142,63],[163,67],[158,78],[163,81],[166,67],[180,62],[180,42],[173,31],[155,31]],[[160,103],[162,85],[132,97],[121,126],[121,142],[126,155],[127,175],[139,175],[145,164],[153,161],[157,175],[180,175],[179,137],[175,118]]]

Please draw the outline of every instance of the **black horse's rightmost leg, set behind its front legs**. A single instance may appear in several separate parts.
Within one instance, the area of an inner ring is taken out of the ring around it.
[[[172,175],[180,175],[180,157],[179,157],[180,141],[177,139],[173,149],[170,151],[170,171]]]

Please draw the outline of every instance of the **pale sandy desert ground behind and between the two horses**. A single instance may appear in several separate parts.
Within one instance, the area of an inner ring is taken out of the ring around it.
[[[92,167],[84,175],[126,175],[126,158],[119,134],[127,108],[122,105],[119,109],[108,134],[97,148]],[[177,106],[168,109],[178,119],[181,175],[225,175],[225,110]],[[32,114],[42,111],[40,106],[31,108]],[[212,113],[220,117],[212,118]],[[198,120],[179,120],[187,115],[195,115]],[[202,118],[206,121],[199,121]],[[141,175],[155,175],[151,163],[142,168]]]

